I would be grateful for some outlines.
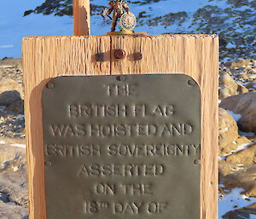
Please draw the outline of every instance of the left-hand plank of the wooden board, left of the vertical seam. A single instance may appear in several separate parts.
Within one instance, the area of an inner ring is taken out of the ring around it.
[[[25,37],[23,69],[29,206],[32,219],[45,219],[44,151],[41,95],[49,78],[110,74],[109,37]],[[96,62],[96,53],[105,53]]]

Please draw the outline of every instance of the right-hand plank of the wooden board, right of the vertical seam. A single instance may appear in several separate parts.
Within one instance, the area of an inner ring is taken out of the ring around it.
[[[124,49],[127,59],[113,56],[112,74],[184,73],[201,87],[201,219],[218,218],[218,37],[158,35],[112,37],[112,49]],[[141,61],[132,56],[142,53]]]

